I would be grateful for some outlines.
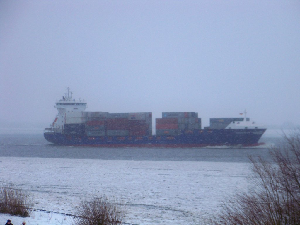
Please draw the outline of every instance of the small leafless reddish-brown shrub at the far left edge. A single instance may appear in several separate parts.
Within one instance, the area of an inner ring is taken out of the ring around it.
[[[0,187],[0,212],[22,217],[29,216],[33,199],[27,192],[17,189],[13,184]]]

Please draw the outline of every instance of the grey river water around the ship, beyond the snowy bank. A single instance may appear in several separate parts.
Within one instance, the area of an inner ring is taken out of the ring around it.
[[[227,146],[209,148],[98,148],[56,146],[44,139],[41,131],[3,132],[0,134],[0,156],[103,160],[152,161],[224,161],[248,162],[248,156],[269,157],[269,149],[283,142],[280,131],[267,131],[252,148]]]

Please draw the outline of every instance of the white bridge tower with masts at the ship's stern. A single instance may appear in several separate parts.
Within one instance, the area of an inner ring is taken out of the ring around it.
[[[82,115],[86,108],[86,102],[79,100],[75,100],[72,97],[72,92],[70,88],[67,88],[67,93],[62,96],[62,99],[58,102],[55,102],[55,108],[58,110],[58,114],[56,115],[54,122],[51,125],[51,129],[63,129],[63,126],[66,122],[66,114],[67,115]]]

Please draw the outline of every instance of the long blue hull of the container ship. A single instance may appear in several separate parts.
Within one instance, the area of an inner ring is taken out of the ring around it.
[[[51,143],[63,146],[95,147],[169,147],[190,148],[205,146],[258,146],[266,129],[198,130],[194,134],[177,136],[78,136],[46,132],[44,137]]]

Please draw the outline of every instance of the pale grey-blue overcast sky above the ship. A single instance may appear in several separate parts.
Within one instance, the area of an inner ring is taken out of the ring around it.
[[[86,111],[300,124],[300,1],[0,1],[0,128]]]

